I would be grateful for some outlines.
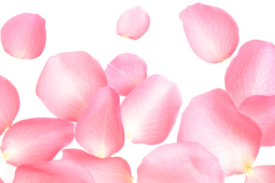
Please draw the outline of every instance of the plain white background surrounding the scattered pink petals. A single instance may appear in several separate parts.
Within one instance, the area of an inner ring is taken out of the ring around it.
[[[178,14],[197,1],[6,1],[0,0],[0,27],[20,13],[38,13],[46,19],[47,44],[44,52],[33,60],[12,58],[0,46],[0,75],[10,80],[20,95],[20,111],[15,122],[27,118],[54,117],[35,94],[39,74],[50,56],[66,51],[87,51],[102,68],[118,54],[137,54],[147,63],[148,76],[160,74],[178,84],[183,106],[169,138],[157,146],[176,142],[181,113],[190,100],[199,94],[224,87],[224,75],[231,59],[242,44],[252,39],[275,43],[275,11],[272,1],[200,1],[223,8],[238,23],[240,43],[233,56],[223,63],[211,64],[198,58],[188,44]],[[116,34],[118,17],[133,6],[141,6],[150,16],[149,30],[137,41]],[[2,135],[3,137],[3,135]],[[2,138],[0,137],[0,139]],[[0,142],[1,144],[1,142]],[[136,169],[157,146],[132,144],[114,156],[130,164],[133,177]],[[76,143],[70,148],[79,148]],[[232,155],[234,156],[234,155]],[[61,157],[61,153],[57,158]],[[262,148],[255,165],[275,165],[275,148]],[[0,157],[0,177],[11,182],[15,168]],[[226,183],[244,182],[245,175],[226,178]]]

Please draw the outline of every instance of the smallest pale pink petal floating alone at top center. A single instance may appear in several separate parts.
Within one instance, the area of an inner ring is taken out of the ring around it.
[[[140,7],[128,9],[118,18],[116,34],[128,39],[140,39],[149,29],[149,15]]]

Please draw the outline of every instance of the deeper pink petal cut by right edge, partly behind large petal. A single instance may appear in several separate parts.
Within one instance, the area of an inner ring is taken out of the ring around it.
[[[238,110],[261,127],[261,146],[275,146],[275,96],[250,96],[240,104]]]

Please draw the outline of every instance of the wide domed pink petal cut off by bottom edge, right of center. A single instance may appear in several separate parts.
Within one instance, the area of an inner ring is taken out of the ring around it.
[[[138,183],[222,183],[219,160],[194,142],[166,144],[143,158]]]

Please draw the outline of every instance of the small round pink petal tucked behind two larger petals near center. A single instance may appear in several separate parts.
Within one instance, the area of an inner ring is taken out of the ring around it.
[[[147,65],[139,56],[124,53],[107,65],[105,73],[109,86],[126,96],[146,79]]]

